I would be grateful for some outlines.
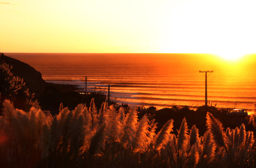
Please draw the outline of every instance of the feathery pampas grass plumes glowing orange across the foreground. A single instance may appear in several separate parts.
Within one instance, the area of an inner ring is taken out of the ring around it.
[[[207,112],[206,132],[198,134],[183,118],[177,134],[168,120],[157,123],[138,112],[102,104],[61,104],[55,116],[32,107],[24,112],[3,102],[0,117],[1,168],[255,168],[256,130],[242,124],[224,129]],[[251,116],[256,126],[256,115]],[[256,127],[254,127],[256,128]]]

